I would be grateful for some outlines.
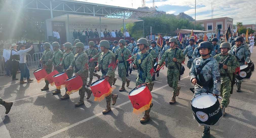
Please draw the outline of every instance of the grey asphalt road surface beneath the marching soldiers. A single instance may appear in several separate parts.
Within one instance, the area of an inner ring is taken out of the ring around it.
[[[256,61],[256,47],[251,56]],[[187,61],[187,59],[186,59]],[[185,63],[186,66],[186,63]],[[79,100],[79,94],[73,93],[68,100],[59,100],[61,95],[52,96],[55,90],[50,86],[47,91],[41,91],[45,83],[36,81],[19,84],[19,80],[11,81],[11,77],[0,77],[0,97],[5,101],[13,101],[9,114],[0,106],[0,138],[197,138],[201,137],[203,127],[193,119],[190,100],[193,87],[188,77],[189,70],[185,67],[179,86],[180,95],[174,105],[169,105],[173,89],[167,85],[167,69],[161,70],[156,77],[152,91],[154,106],[151,109],[151,120],[141,124],[143,115],[133,114],[133,107],[128,98],[128,92],[135,87],[136,71],[129,75],[130,86],[124,92],[118,89],[122,85],[117,77],[113,86],[118,100],[112,111],[106,115],[101,112],[106,106],[105,100],[93,101],[85,99],[85,105],[74,107]],[[115,72],[117,75],[117,71]],[[17,78],[19,78],[17,75]],[[34,78],[33,73],[30,73]],[[89,80],[89,79],[88,79]],[[94,77],[94,80],[96,78]],[[218,125],[211,127],[211,137],[216,138],[255,138],[256,137],[256,75],[241,85],[241,93],[234,86],[230,104],[226,108],[226,116]],[[65,89],[61,90],[61,94]]]

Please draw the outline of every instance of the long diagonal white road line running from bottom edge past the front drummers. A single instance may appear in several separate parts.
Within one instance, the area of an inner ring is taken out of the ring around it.
[[[183,79],[185,79],[185,78],[187,78],[187,77],[188,77],[188,76],[183,77],[183,78],[181,78],[180,80],[183,80]],[[162,88],[164,88],[164,87],[166,87],[166,86],[168,86],[168,84],[167,84],[167,85],[164,85],[164,86],[162,86],[162,87],[159,87],[159,88],[157,88],[157,89],[155,89],[155,90],[152,90],[151,93],[153,93],[154,91],[157,91],[157,90],[159,90],[159,89],[162,89]],[[119,107],[121,107],[121,106],[123,106],[123,105],[126,105],[127,103],[130,103],[130,100],[129,100],[129,101],[126,101],[126,102],[124,102],[124,103],[121,103],[121,104],[118,105],[118,106],[115,106],[112,110],[115,110],[116,108],[119,108]],[[49,138],[49,137],[54,136],[54,135],[56,135],[56,134],[59,134],[59,133],[61,133],[61,132],[63,132],[63,131],[66,131],[66,130],[68,130],[68,129],[70,129],[70,128],[73,128],[74,126],[77,126],[77,125],[79,125],[79,124],[81,124],[81,123],[84,123],[84,122],[89,121],[89,120],[91,120],[91,119],[93,119],[93,118],[95,118],[95,117],[98,117],[98,116],[100,116],[100,115],[102,115],[102,113],[97,113],[97,114],[95,114],[94,116],[91,116],[91,117],[89,117],[89,118],[86,118],[86,119],[84,119],[84,120],[81,120],[81,121],[79,121],[79,122],[77,122],[77,123],[71,124],[71,125],[69,125],[69,126],[63,128],[63,129],[60,129],[60,130],[58,130],[58,131],[55,131],[55,132],[53,132],[53,133],[51,133],[51,134],[48,134],[48,135],[46,135],[46,136],[43,136],[43,137],[41,137],[41,138]]]

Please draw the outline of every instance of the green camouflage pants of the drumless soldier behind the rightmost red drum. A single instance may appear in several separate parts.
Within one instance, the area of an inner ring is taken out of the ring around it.
[[[179,81],[179,71],[177,69],[171,69],[167,71],[167,83],[173,88],[173,94],[177,93],[177,86]]]

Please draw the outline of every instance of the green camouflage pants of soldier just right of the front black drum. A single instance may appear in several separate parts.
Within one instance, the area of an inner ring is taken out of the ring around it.
[[[220,95],[222,96],[221,105],[223,105],[224,107],[228,107],[230,91],[231,91],[231,82],[230,81],[221,83],[221,85],[220,85],[220,93],[221,93]]]

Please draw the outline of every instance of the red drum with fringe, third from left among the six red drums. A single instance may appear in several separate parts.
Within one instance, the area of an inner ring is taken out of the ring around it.
[[[61,72],[59,74],[56,74],[52,76],[55,86],[57,89],[61,89],[62,87],[65,86],[65,80],[68,79],[68,75],[66,72]]]

